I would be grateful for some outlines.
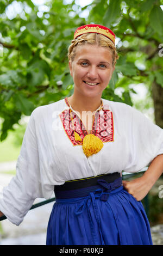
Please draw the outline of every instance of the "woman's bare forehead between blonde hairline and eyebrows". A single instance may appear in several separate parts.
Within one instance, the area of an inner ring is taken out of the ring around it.
[[[109,47],[100,47],[98,45],[82,45],[77,46],[74,60],[77,62],[79,59],[89,59],[90,61],[110,61],[112,62],[112,53]]]

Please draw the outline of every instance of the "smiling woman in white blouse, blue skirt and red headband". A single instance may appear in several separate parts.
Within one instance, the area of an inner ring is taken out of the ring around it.
[[[109,28],[76,30],[68,48],[74,93],[33,111],[16,176],[3,189],[0,210],[16,225],[54,190],[47,245],[152,245],[140,200],[162,173],[163,133],[136,109],[101,99],[117,58]],[[149,163],[122,186],[122,170]]]

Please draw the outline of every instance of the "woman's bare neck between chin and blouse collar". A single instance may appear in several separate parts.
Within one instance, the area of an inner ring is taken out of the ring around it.
[[[75,94],[68,97],[68,102],[74,111],[82,113],[82,111],[96,111],[101,105],[101,97],[77,97]]]

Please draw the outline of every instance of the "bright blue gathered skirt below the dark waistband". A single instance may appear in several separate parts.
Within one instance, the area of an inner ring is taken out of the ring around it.
[[[105,193],[98,188],[85,197],[56,199],[53,205],[46,245],[152,244],[143,205],[123,186]]]

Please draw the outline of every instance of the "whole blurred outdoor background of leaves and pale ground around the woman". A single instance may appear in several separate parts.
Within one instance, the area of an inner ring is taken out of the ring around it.
[[[79,26],[97,23],[116,34],[120,58],[102,97],[139,109],[163,128],[162,10],[163,0],[0,0],[1,190],[16,173],[33,109],[73,93],[67,49]],[[161,185],[162,175],[143,202],[158,245],[163,245]],[[1,221],[0,244],[44,245],[52,206],[30,210],[19,227]]]

